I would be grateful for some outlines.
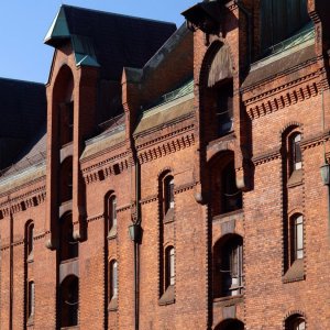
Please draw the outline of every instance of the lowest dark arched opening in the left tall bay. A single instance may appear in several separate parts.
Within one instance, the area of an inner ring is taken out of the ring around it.
[[[61,327],[78,324],[79,280],[69,275],[61,284]]]

